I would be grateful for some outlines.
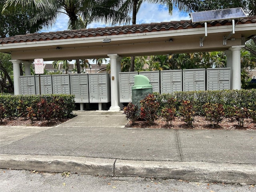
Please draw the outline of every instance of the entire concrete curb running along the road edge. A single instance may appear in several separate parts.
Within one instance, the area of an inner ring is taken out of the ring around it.
[[[0,168],[43,172],[70,171],[100,176],[139,176],[229,184],[256,184],[255,164],[140,161],[74,156],[0,154]]]

